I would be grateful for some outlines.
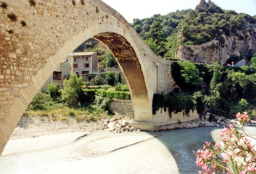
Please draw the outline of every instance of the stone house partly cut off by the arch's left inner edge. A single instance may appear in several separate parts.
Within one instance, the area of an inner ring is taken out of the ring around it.
[[[59,89],[62,88],[62,82],[64,79],[69,79],[71,74],[71,66],[69,60],[63,60],[58,67],[53,71],[46,83],[41,87],[41,92],[45,92],[49,83],[53,83],[58,86]]]

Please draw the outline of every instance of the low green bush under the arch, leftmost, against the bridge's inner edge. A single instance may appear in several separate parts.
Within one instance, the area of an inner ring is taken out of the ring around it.
[[[29,104],[29,110],[46,110],[51,109],[54,102],[50,94],[38,92]]]

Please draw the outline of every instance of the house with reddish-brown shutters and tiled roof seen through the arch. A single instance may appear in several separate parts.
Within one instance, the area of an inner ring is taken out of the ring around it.
[[[96,52],[71,53],[68,56],[71,63],[71,73],[98,73],[98,56]]]

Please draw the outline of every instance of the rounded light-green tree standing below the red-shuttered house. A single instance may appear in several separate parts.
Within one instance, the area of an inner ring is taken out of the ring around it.
[[[62,100],[69,107],[76,107],[86,101],[84,93],[84,82],[82,77],[79,78],[75,73],[71,74],[70,79],[63,81],[63,88],[61,90]]]

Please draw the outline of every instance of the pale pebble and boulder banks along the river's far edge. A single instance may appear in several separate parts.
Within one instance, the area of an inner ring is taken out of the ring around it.
[[[212,119],[212,117],[211,117]],[[155,131],[172,130],[181,128],[199,128],[199,127],[228,127],[232,124],[235,127],[240,126],[237,119],[226,119],[225,117],[215,116],[214,120],[210,120],[210,113],[206,113],[202,118],[172,123],[169,125],[156,126]],[[246,126],[256,126],[256,121],[250,120]],[[77,122],[73,116],[67,116],[67,120],[51,120],[41,116],[22,117],[14,129],[10,140],[17,138],[33,138],[42,135],[52,135],[67,132],[85,132],[90,133],[95,130],[108,130],[113,133],[122,132],[140,132],[140,130],[131,127],[129,122],[115,116],[110,119]]]

